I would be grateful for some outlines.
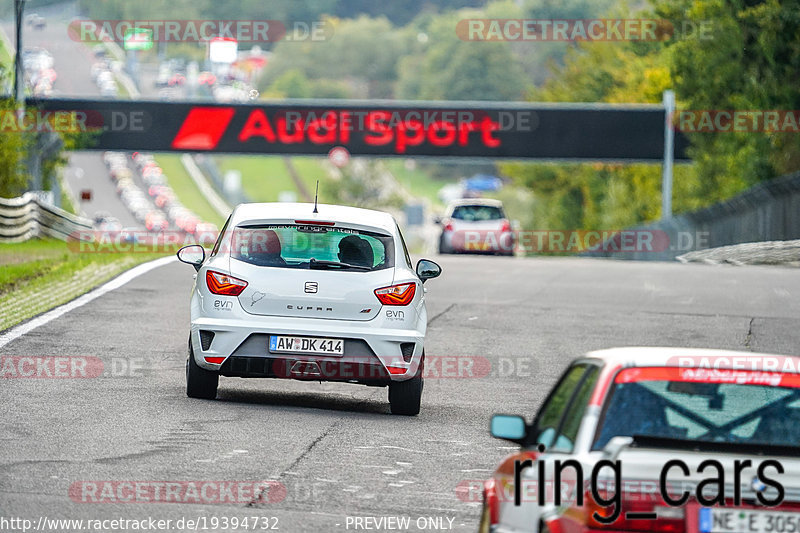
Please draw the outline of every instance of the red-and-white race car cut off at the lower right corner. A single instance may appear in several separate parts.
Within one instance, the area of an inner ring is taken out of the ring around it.
[[[800,358],[615,348],[574,361],[483,489],[482,532],[800,532]]]

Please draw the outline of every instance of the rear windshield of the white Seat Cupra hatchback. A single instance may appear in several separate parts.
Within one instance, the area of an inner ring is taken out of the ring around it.
[[[299,224],[237,226],[231,257],[265,267],[374,271],[394,266],[391,235]]]

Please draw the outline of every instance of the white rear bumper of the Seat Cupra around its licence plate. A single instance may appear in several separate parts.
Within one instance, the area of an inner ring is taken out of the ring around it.
[[[413,377],[422,359],[424,332],[369,327],[323,319],[269,317],[255,320],[198,318],[191,325],[195,362],[223,376],[385,385]],[[202,334],[201,334],[202,333]],[[271,335],[344,339],[344,354],[274,352]],[[206,358],[219,361],[212,363]],[[404,373],[400,369],[405,369]]]

